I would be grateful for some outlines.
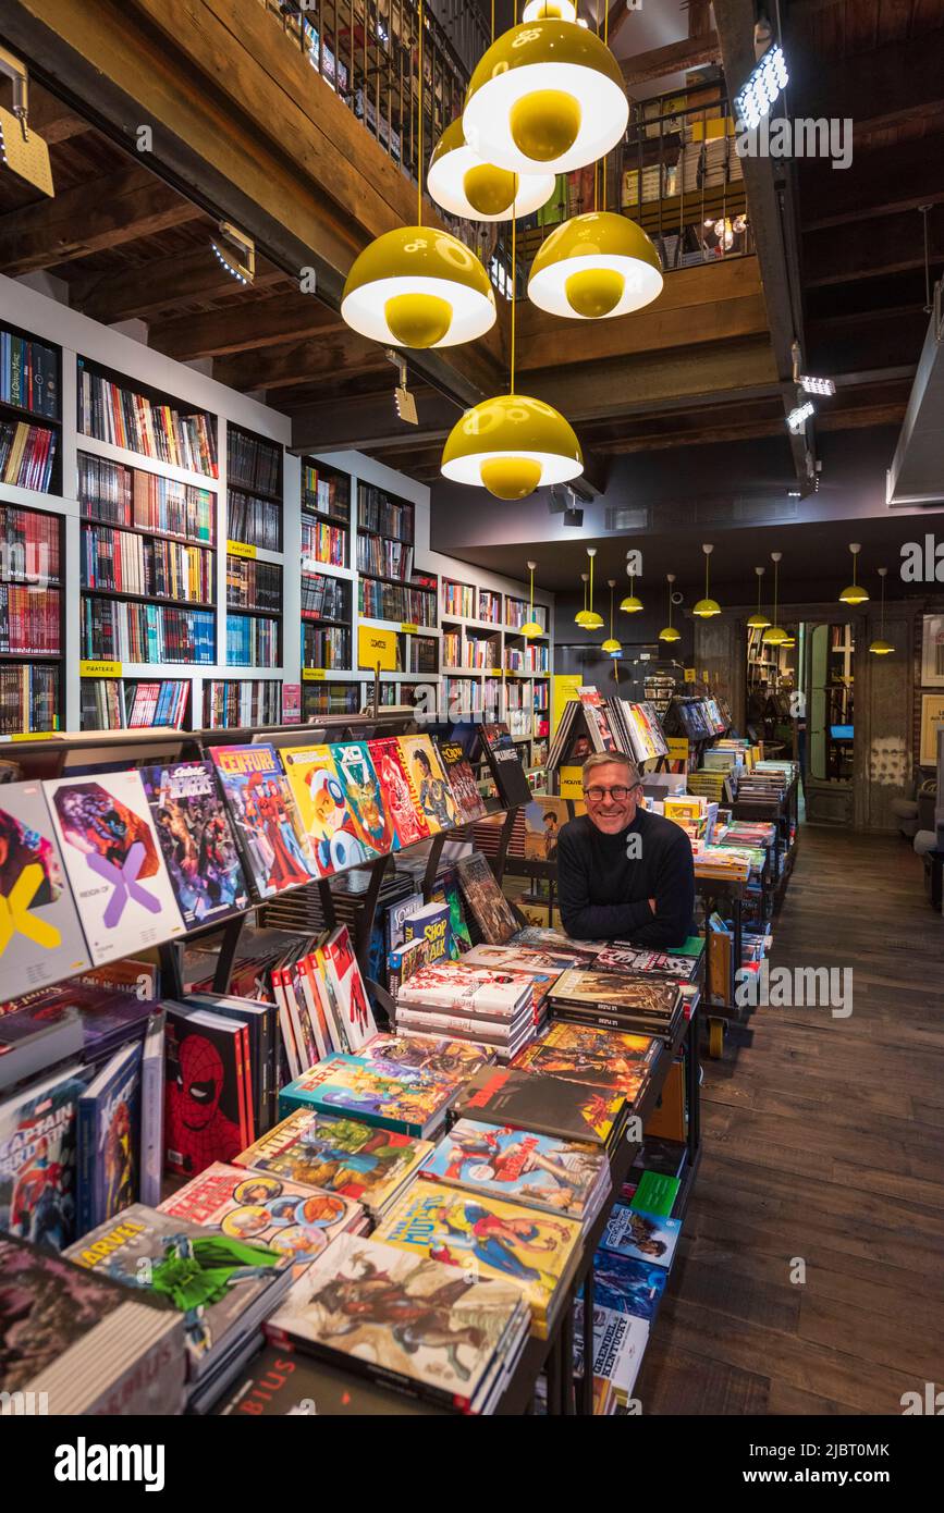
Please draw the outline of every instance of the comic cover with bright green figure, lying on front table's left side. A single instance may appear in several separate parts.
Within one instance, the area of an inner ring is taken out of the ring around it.
[[[94,1275],[168,1298],[183,1315],[192,1377],[219,1359],[228,1330],[245,1328],[253,1303],[265,1294],[275,1300],[292,1266],[269,1245],[207,1232],[144,1203],[98,1224],[67,1254]]]

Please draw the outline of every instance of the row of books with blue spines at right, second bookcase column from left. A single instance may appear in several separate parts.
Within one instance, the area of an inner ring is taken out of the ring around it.
[[[212,664],[216,660],[216,616],[212,610],[86,598],[82,604],[82,657]]]

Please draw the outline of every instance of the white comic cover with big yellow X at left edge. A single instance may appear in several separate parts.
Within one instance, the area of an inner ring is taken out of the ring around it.
[[[0,791],[0,973],[3,996],[27,993],[89,962],[39,782]]]

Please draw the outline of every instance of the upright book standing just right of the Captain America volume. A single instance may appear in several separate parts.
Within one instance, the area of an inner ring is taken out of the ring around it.
[[[138,1197],[142,1049],[115,1052],[79,1098],[79,1235]]]

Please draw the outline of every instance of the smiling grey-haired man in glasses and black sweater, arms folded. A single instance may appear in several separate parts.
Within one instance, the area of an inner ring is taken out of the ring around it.
[[[691,841],[661,814],[637,808],[638,769],[619,752],[584,763],[587,812],[557,841],[560,911],[576,940],[628,940],[666,949],[693,932]]]

